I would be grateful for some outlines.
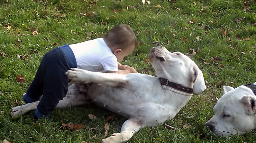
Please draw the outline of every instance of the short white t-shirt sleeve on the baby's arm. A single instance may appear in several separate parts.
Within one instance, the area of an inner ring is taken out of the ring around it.
[[[101,65],[103,66],[105,71],[117,71],[118,70],[118,62],[116,56],[106,57],[101,59]]]

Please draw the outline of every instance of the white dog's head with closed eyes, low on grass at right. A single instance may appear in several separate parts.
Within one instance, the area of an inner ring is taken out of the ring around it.
[[[256,128],[255,108],[256,97],[251,89],[224,86],[223,95],[213,108],[214,116],[205,125],[220,136],[249,132]]]

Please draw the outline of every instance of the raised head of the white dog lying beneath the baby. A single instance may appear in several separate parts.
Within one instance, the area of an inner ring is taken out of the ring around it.
[[[193,87],[199,94],[206,89],[203,73],[188,56],[180,52],[169,52],[158,42],[150,50],[149,62],[156,70],[157,77],[186,87]]]

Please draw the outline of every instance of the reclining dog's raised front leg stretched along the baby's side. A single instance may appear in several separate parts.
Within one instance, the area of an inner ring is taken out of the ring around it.
[[[108,86],[125,86],[128,84],[126,75],[121,74],[107,74],[100,72],[90,72],[84,69],[73,68],[66,72],[68,78],[73,82],[88,82],[88,83],[98,83]]]

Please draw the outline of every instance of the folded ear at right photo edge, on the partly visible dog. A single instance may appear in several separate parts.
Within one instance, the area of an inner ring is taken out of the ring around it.
[[[256,109],[256,98],[252,95],[243,96],[240,101],[243,103],[245,112],[247,114],[254,114]]]

